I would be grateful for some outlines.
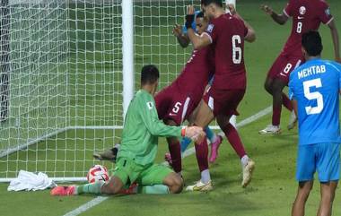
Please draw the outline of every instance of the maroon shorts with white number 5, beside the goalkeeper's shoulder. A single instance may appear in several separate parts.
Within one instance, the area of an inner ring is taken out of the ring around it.
[[[177,125],[187,119],[202,98],[203,92],[180,92],[176,86],[168,86],[155,96],[156,109],[162,120],[173,120]]]

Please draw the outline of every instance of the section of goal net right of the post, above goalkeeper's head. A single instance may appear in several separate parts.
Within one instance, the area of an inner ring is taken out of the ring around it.
[[[176,23],[184,23],[188,4],[200,9],[199,1],[186,0],[136,0],[134,4],[136,75],[145,64],[157,65],[161,88],[181,72],[192,51],[190,45],[181,48],[171,33]]]

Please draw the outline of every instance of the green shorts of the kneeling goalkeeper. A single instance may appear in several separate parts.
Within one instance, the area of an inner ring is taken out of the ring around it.
[[[136,182],[142,186],[162,185],[163,179],[173,172],[170,168],[159,164],[137,164],[135,160],[119,158],[113,172],[124,185]]]

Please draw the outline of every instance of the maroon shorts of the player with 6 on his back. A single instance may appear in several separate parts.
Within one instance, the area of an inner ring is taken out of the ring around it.
[[[214,117],[223,114],[239,116],[237,111],[245,90],[217,90],[212,86],[204,95],[204,101],[214,112]]]

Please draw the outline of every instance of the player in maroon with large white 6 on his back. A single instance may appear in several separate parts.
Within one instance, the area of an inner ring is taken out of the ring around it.
[[[253,42],[256,39],[255,31],[240,15],[229,5],[232,13],[225,13],[222,0],[203,0],[205,15],[210,19],[205,33],[197,36],[190,29],[189,23],[193,20],[194,7],[188,6],[186,26],[188,38],[194,48],[209,46],[214,52],[214,82],[200,103],[194,124],[205,127],[214,117],[224,134],[232,143],[233,148],[242,148],[243,156],[240,157],[243,168],[241,185],[249,184],[252,171],[255,167],[243,149],[237,130],[229,123],[233,114],[243,98],[246,89],[246,71],[243,59],[244,39]],[[212,189],[211,177],[207,163],[207,144],[196,144],[196,153],[201,179],[188,190],[206,191]]]

